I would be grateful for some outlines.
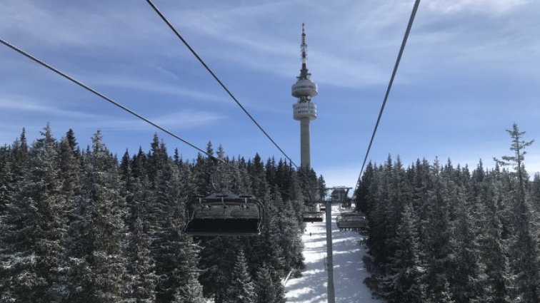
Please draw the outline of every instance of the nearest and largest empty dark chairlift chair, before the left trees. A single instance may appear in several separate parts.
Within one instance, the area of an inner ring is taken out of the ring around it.
[[[195,236],[251,236],[261,233],[264,207],[251,196],[214,193],[187,205],[185,232]]]

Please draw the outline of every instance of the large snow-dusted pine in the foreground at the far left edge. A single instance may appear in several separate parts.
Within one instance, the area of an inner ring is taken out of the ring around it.
[[[8,302],[60,302],[64,295],[66,201],[49,124],[42,135],[0,224],[0,285]]]

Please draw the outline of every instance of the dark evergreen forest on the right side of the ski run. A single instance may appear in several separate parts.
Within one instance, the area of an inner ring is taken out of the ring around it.
[[[540,175],[514,125],[487,170],[450,160],[369,165],[356,201],[369,219],[364,282],[388,302],[540,302]],[[504,168],[508,166],[508,168]]]

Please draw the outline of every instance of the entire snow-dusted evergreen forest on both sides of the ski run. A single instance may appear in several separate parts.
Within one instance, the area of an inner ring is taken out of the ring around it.
[[[492,168],[367,165],[355,202],[376,296],[540,302],[540,175],[525,168],[532,141],[508,132],[511,153]],[[304,268],[304,201],[325,187],[314,170],[211,143],[213,157],[186,160],[157,135],[119,158],[100,131],[91,140],[81,148],[46,125],[33,143],[23,130],[0,147],[0,302],[286,302],[282,279]],[[186,205],[214,192],[261,201],[261,235],[186,235]]]

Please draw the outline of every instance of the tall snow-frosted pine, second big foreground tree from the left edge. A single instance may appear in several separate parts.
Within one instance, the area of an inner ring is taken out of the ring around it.
[[[117,163],[98,130],[85,154],[79,227],[79,256],[74,259],[71,302],[121,302],[126,277],[124,199]]]

